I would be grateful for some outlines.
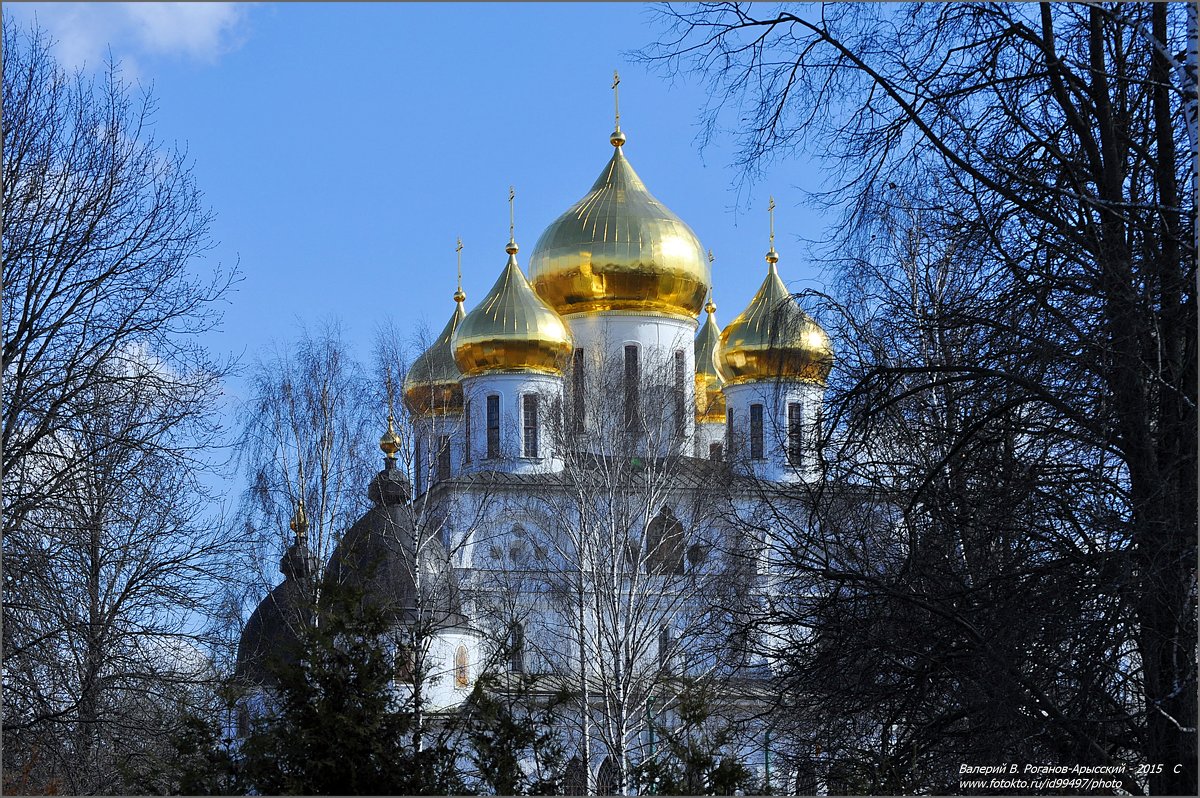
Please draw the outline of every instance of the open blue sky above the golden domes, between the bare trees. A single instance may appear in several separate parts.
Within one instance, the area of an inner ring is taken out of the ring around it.
[[[504,264],[514,185],[520,256],[582,197],[611,156],[613,68],[625,152],[650,191],[715,256],[718,319],[764,274],[775,196],[781,272],[821,288],[800,238],[816,166],[779,164],[736,191],[732,146],[700,151],[703,86],[630,50],[661,28],[642,4],[6,4],[68,66],[112,52],[152,85],[155,131],[185,145],[216,212],[214,263],[242,282],[208,346],[251,361],[301,320],[342,320],[370,358],[389,317],[437,331],[452,310],[455,239],[468,308]],[[242,385],[233,379],[230,397]]]

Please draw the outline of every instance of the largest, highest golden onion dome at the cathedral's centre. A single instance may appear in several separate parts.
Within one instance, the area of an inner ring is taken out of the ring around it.
[[[625,311],[696,318],[710,269],[696,234],[625,160],[624,133],[583,199],[534,245],[529,282],[563,316]]]

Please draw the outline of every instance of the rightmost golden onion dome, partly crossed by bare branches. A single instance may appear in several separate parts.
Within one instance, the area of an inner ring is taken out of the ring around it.
[[[833,344],[784,286],[767,253],[767,278],[742,313],[721,332],[720,364],[727,385],[798,380],[824,385],[833,367]]]

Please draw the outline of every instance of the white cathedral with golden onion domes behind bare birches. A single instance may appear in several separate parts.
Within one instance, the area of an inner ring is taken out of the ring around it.
[[[528,277],[510,235],[487,295],[468,310],[455,292],[404,379],[410,440],[389,416],[373,506],[323,569],[386,606],[397,689],[430,712],[454,712],[487,673],[532,701],[550,683],[582,695],[563,721],[568,792],[606,792],[622,758],[653,756],[671,690],[720,667],[702,605],[731,574],[770,589],[755,544],[749,570],[726,544],[739,518],[760,546],[772,534],[763,486],[822,479],[833,365],[780,276],[774,229],[758,292],[721,329],[710,256],[637,176],[619,118],[610,142],[595,184],[538,239]],[[293,529],[284,581],[241,638],[239,672],[257,684],[318,571],[302,511]],[[794,770],[770,773],[769,748],[745,750],[778,791],[797,790]]]

